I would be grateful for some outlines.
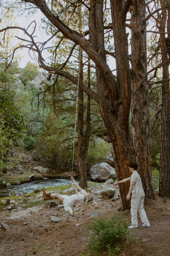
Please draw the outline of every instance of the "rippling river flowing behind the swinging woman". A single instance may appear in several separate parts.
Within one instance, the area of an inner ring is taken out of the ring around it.
[[[79,182],[78,179],[75,179],[76,182]],[[68,185],[70,184],[70,179],[40,179],[35,180],[28,183],[23,183],[21,185],[13,185],[11,187],[2,187],[0,188],[0,197],[6,197],[10,196],[11,193],[16,194],[18,196],[20,193],[31,193],[35,189],[42,189],[42,188],[48,188],[48,187],[57,187],[62,185]],[[57,191],[56,191],[57,192]]]

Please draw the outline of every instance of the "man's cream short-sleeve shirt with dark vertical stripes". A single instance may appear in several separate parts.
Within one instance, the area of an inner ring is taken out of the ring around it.
[[[137,173],[136,170],[132,173],[132,175],[130,177],[130,183],[132,181],[135,182],[135,184],[133,186],[133,190],[132,190],[132,197],[145,196],[145,193],[144,193],[143,187],[142,187],[142,182],[141,182],[140,175]]]

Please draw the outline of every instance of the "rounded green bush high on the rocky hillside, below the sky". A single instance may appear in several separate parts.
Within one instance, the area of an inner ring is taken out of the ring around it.
[[[31,80],[33,80],[34,77],[38,75],[39,71],[36,68],[36,64],[31,63],[31,61],[29,61],[27,65],[24,67],[24,69],[22,70],[22,83],[24,85],[31,82]]]

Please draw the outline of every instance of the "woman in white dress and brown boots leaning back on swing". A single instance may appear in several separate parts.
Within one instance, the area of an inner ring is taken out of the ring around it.
[[[76,187],[80,190],[80,192],[74,187],[72,181],[74,182]],[[91,194],[89,192],[86,192],[84,189],[82,189],[72,176],[71,176],[70,184],[72,185],[76,194],[71,196],[61,195],[61,194],[52,194],[52,193],[47,193],[47,191],[43,189],[44,200],[60,199],[64,205],[65,211],[69,211],[70,213],[73,213],[71,206],[74,205],[76,201],[81,201],[81,200],[84,200],[84,198],[90,197]]]

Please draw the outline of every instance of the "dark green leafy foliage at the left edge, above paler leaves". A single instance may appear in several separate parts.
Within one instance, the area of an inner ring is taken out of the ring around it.
[[[14,91],[7,93],[0,92],[0,125],[6,136],[13,141],[24,128],[24,117],[20,115],[17,108],[14,106]]]

